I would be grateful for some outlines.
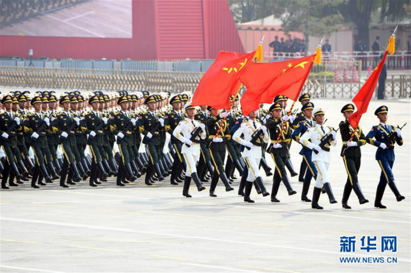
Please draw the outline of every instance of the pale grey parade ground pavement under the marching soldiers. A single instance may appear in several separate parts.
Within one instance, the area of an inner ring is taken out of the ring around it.
[[[338,126],[341,107],[348,100],[314,100],[322,106],[327,125]],[[373,207],[380,168],[376,148],[362,148],[359,181],[369,203],[359,205],[351,193],[351,210],[341,207],[347,179],[340,157],[341,138],[332,149],[330,183],[338,204],[320,197],[324,211],[300,201],[302,183],[291,178],[296,195],[279,188],[281,203],[252,192],[254,204],[242,202],[221,182],[217,198],[208,191],[193,198],[181,195],[182,185],[170,180],[146,186],[140,178],[126,187],[114,179],[98,188],[82,181],[67,189],[58,182],[40,190],[29,183],[1,191],[1,272],[409,272],[410,271],[410,103],[390,100],[389,123],[408,122],[397,146],[394,174],[400,192],[397,202],[386,188],[382,203]],[[365,134],[377,124],[371,101],[361,125]],[[299,145],[291,159],[299,169]],[[269,164],[272,160],[267,157]],[[238,174],[237,174],[238,176]],[[271,191],[272,176],[264,177]],[[204,183],[209,188],[209,183]],[[310,195],[312,194],[310,187]],[[311,198],[311,197],[310,197]],[[356,236],[356,252],[340,253],[340,236]],[[361,250],[362,236],[377,236],[377,250]],[[381,236],[397,236],[397,252],[381,252]],[[396,257],[397,263],[340,263],[339,257]]]

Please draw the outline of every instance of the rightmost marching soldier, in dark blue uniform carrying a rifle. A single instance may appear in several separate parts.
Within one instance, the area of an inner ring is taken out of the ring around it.
[[[374,112],[380,120],[380,124],[371,128],[371,131],[365,137],[367,142],[378,147],[376,152],[376,160],[381,167],[380,182],[377,186],[376,200],[374,206],[378,208],[387,208],[381,204],[384,195],[385,186],[388,183],[389,188],[393,191],[397,201],[405,199],[398,191],[394,180],[393,165],[395,160],[394,145],[403,144],[401,137],[401,129],[393,125],[388,125],[388,107],[380,106]]]

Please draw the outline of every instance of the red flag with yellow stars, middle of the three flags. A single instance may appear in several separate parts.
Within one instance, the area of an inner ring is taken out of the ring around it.
[[[310,73],[314,55],[279,62],[250,62],[241,70],[240,80],[247,87],[242,95],[243,115],[258,109],[258,104],[272,103],[277,95],[297,100]]]

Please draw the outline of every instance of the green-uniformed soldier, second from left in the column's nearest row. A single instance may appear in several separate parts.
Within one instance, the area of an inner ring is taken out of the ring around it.
[[[46,183],[52,182],[45,163],[46,149],[48,149],[46,131],[50,125],[50,119],[42,113],[42,103],[42,97],[35,96],[32,98],[30,104],[34,107],[34,113],[29,114],[23,122],[26,131],[32,138],[32,148],[36,162],[31,180],[31,186],[34,188],[39,187],[35,181],[38,180],[40,175],[46,180]],[[58,176],[53,178],[57,179]],[[38,181],[40,185],[46,185],[41,181],[41,177]]]

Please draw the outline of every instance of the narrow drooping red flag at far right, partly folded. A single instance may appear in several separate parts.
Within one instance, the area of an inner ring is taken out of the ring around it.
[[[363,87],[358,91],[357,95],[352,99],[352,102],[356,104],[357,112],[352,113],[348,117],[348,122],[353,128],[358,127],[358,123],[360,123],[361,116],[367,112],[369,101],[372,98],[372,94],[377,86],[378,78],[380,77],[381,70],[384,66],[385,58],[387,57],[388,51],[385,51],[384,57],[378,64],[378,66],[374,69],[371,76],[367,79],[364,83]]]

